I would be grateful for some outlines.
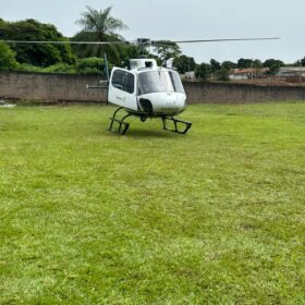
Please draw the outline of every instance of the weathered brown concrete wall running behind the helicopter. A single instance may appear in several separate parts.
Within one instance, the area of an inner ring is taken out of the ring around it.
[[[95,76],[0,72],[0,97],[39,102],[106,102],[107,89],[87,89]],[[184,83],[188,103],[304,100],[305,87]]]

